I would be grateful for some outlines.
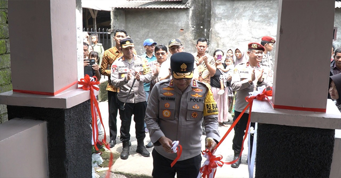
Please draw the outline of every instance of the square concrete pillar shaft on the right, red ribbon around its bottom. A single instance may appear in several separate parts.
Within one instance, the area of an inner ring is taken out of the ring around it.
[[[325,112],[335,0],[280,0],[275,108]]]

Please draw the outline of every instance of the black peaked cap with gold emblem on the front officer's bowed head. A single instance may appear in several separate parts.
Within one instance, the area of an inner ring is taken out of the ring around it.
[[[174,79],[192,79],[194,56],[190,53],[175,53],[170,57],[170,68]]]

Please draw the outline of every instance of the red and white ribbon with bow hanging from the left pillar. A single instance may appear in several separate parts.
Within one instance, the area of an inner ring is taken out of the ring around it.
[[[102,116],[101,116],[101,112],[99,110],[98,107],[98,101],[95,97],[95,93],[94,90],[99,90],[99,88],[96,86],[97,84],[99,84],[100,82],[97,81],[97,78],[94,76],[92,80],[92,78],[90,78],[89,75],[85,75],[84,79],[80,79],[80,81],[78,81],[79,85],[83,85],[79,88],[83,89],[83,90],[90,90],[90,103],[91,103],[91,117],[92,117],[92,128],[93,128],[93,140],[94,140],[94,146],[95,146],[95,150],[98,151],[99,149],[97,148],[97,142],[100,142],[98,140],[98,125],[97,125],[97,117],[96,114],[98,114],[99,120],[101,121],[101,124],[103,126],[103,130],[104,130],[104,139],[102,139],[102,143],[105,145],[105,147],[110,150],[110,146],[107,143],[107,138],[106,138],[106,134],[105,134],[105,128],[103,125],[103,121],[102,121]],[[95,129],[94,129],[95,128]],[[97,133],[95,133],[97,132]],[[106,178],[110,177],[110,168],[113,164],[113,153],[110,154],[110,160],[109,160],[109,170],[107,172]]]

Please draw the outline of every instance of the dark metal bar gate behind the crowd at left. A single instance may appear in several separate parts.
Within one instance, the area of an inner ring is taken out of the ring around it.
[[[104,50],[107,50],[107,49],[112,47],[111,46],[111,35],[110,35],[111,32],[109,32],[109,31],[110,31],[109,28],[107,28],[107,29],[102,28],[102,31],[100,28],[98,28],[98,30],[96,32],[93,31],[93,28],[91,28],[91,31],[89,31],[89,28],[87,28],[86,30],[85,30],[85,28],[83,28],[83,32],[88,32],[88,34],[90,36],[89,37],[90,44],[92,44],[91,36],[97,35],[98,42],[102,43]]]

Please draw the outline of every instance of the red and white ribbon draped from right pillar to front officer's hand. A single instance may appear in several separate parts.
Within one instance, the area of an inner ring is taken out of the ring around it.
[[[246,107],[244,108],[243,112],[238,116],[238,118],[233,122],[233,124],[231,125],[231,127],[227,130],[226,134],[223,136],[223,138],[219,141],[219,143],[217,144],[217,146],[212,150],[212,152],[214,152],[214,150],[216,150],[221,143],[225,140],[225,138],[227,137],[227,135],[231,132],[231,130],[234,128],[234,126],[238,123],[238,121],[242,118],[243,114],[245,113],[246,109],[249,107],[249,115],[248,115],[248,120],[247,120],[247,124],[246,124],[246,129],[245,129],[245,135],[243,138],[243,143],[242,143],[242,150],[240,151],[239,157],[238,159],[240,159],[240,157],[242,156],[243,150],[244,150],[244,142],[247,136],[247,132],[248,132],[248,127],[250,125],[250,118],[251,118],[251,110],[252,110],[252,104],[253,104],[253,100],[254,99],[258,99],[258,100],[264,100],[267,99],[271,104],[272,102],[268,99],[268,97],[272,96],[272,88],[270,87],[271,90],[266,91],[266,88],[263,90],[263,92],[261,94],[258,94],[257,96],[249,96],[246,97],[245,100],[248,102],[248,104],[246,105]],[[273,105],[273,104],[272,104]],[[238,161],[238,159],[236,160],[232,160],[230,162],[224,162],[221,161],[221,159],[223,158],[223,156],[221,155],[217,155],[214,156],[211,151],[209,151],[208,149],[206,149],[205,151],[202,152],[203,155],[207,154],[209,157],[209,163],[208,165],[204,165],[200,168],[200,173],[202,173],[202,178],[208,178],[208,176],[213,172],[213,170],[215,168],[222,167],[224,164],[233,164],[235,162]],[[217,170],[214,170],[214,174],[213,174],[213,178],[215,176],[215,172]]]

